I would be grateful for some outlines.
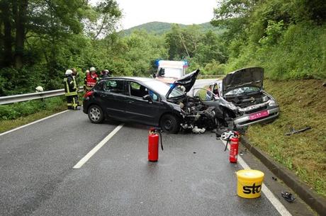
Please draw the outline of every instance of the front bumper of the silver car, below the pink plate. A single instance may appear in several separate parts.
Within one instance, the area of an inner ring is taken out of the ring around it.
[[[249,115],[242,115],[239,118],[235,118],[234,124],[236,128],[242,128],[246,127],[248,125],[252,125],[254,123],[265,123],[269,122],[270,120],[273,120],[274,118],[277,118],[279,116],[279,107],[276,108],[271,108],[268,110],[269,115],[266,116],[265,118],[259,118],[255,120],[250,120]]]

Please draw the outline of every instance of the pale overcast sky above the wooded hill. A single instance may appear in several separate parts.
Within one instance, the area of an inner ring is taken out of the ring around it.
[[[153,21],[200,24],[213,18],[217,0],[116,0],[123,11],[123,29]]]

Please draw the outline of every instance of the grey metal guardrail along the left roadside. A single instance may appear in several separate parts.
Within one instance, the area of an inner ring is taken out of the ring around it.
[[[79,87],[79,92],[83,90],[83,86]],[[42,98],[50,98],[56,96],[64,95],[64,89],[57,89],[52,91],[42,91],[35,93],[23,93],[13,96],[3,96],[0,97],[0,105],[9,104],[9,103],[18,103],[23,101],[31,101]]]

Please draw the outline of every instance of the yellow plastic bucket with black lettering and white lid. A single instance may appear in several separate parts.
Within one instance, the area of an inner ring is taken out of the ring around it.
[[[237,195],[242,198],[259,198],[264,173],[254,169],[237,171]]]

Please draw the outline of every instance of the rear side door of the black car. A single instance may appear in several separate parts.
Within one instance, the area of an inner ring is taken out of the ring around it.
[[[123,79],[103,81],[103,91],[99,98],[108,116],[121,120],[128,118],[125,116],[125,93],[125,81]]]

